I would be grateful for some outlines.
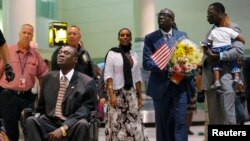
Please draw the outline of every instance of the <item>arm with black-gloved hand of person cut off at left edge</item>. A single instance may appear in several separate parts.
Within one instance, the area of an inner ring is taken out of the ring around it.
[[[3,60],[6,80],[12,81],[15,78],[12,66],[9,64],[10,53],[2,31],[0,30],[0,60]]]

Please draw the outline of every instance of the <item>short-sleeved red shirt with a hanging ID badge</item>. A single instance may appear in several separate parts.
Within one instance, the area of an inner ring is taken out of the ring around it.
[[[0,60],[0,86],[15,91],[27,91],[31,89],[36,77],[41,79],[48,71],[48,67],[41,55],[33,48],[23,53],[18,44],[10,48],[10,64],[15,73],[15,79],[11,82],[5,80],[3,61]]]

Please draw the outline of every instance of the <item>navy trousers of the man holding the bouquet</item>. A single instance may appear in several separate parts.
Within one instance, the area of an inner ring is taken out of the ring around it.
[[[157,141],[187,141],[187,89],[170,82],[163,99],[153,99]]]

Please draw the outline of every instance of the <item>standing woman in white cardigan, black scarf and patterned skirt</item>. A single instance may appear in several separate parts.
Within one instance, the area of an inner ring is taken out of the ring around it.
[[[140,113],[143,106],[140,65],[137,54],[131,50],[131,40],[131,31],[120,29],[119,46],[111,48],[105,59],[104,81],[109,96],[106,141],[148,140]]]

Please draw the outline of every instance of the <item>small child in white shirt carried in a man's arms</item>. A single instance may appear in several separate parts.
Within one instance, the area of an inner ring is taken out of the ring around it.
[[[210,47],[213,53],[219,54],[223,51],[227,51],[232,47],[232,39],[241,41],[245,44],[244,37],[239,34],[237,31],[230,28],[230,20],[227,14],[220,13],[215,20],[219,23],[218,27],[214,28],[208,36],[207,47]],[[222,61],[218,61],[213,66],[213,76],[214,83],[211,85],[212,89],[217,89],[221,87],[220,83],[220,71],[222,70]],[[233,75],[234,84],[243,85],[243,81],[240,79],[240,67],[237,64],[236,60],[231,62],[231,72]]]

